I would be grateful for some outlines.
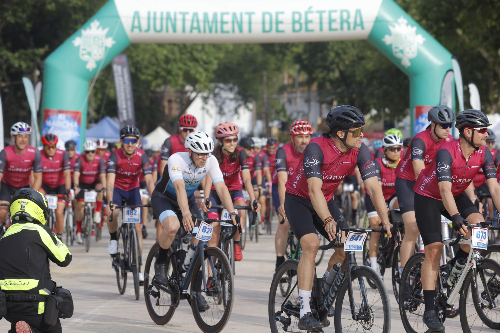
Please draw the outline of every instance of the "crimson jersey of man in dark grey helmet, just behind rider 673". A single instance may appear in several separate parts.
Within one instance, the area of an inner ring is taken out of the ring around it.
[[[396,166],[396,177],[415,180],[415,171],[411,161],[421,160],[425,166],[428,166],[434,159],[437,150],[452,139],[453,136],[448,135],[448,137],[436,141],[430,132],[430,128],[413,136],[408,150]]]

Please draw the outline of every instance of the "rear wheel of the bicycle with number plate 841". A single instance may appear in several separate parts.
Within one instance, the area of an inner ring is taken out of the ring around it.
[[[290,292],[295,291],[296,294],[293,294],[292,297],[289,297],[289,299],[297,299],[298,298],[298,286],[296,288],[293,288],[293,290],[290,291],[290,288],[285,294],[278,294],[278,287],[280,288],[281,284],[281,278],[283,276],[286,276],[290,282],[292,283],[290,276],[293,278],[297,276],[297,267],[298,267],[298,260],[295,259],[288,259],[284,261],[276,270],[274,273],[274,276],[272,277],[271,281],[271,287],[269,289],[269,297],[268,297],[268,303],[267,303],[267,310],[268,310],[268,318],[269,318],[269,327],[271,329],[272,333],[280,333],[283,331],[283,326],[282,323],[277,321],[275,319],[276,315],[282,315],[283,311],[281,310],[281,305],[283,304],[283,301],[285,298],[288,297]],[[295,283],[294,283],[295,284]],[[281,297],[281,301],[276,302],[276,295]],[[295,297],[296,296],[296,297]],[[291,303],[290,303],[291,304]],[[293,304],[291,304],[293,306]],[[279,313],[278,313],[279,312]],[[283,315],[284,316],[284,315]],[[290,329],[290,331],[298,331],[298,317],[292,316],[290,318],[290,326],[287,327],[287,330]],[[295,320],[293,321],[293,318]]]

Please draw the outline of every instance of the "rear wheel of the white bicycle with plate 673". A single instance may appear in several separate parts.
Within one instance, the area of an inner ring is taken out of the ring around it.
[[[422,284],[420,283],[420,270],[424,257],[425,253],[423,252],[413,254],[406,262],[401,274],[399,314],[407,333],[430,332],[422,321],[425,306]],[[410,290],[407,290],[407,288],[410,288]],[[411,297],[406,296],[405,299],[405,294],[409,294]]]

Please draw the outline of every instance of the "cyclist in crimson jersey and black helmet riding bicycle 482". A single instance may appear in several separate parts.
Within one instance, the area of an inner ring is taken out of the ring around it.
[[[111,204],[114,204],[114,206],[121,205],[122,199],[125,199],[128,205],[140,205],[138,174],[141,170],[144,172],[149,194],[154,189],[149,158],[143,150],[137,148],[139,136],[140,131],[137,127],[132,125],[123,126],[120,129],[121,148],[111,152],[107,161],[106,211],[108,215],[111,213]],[[117,218],[119,212],[119,209],[114,209],[113,221],[107,220],[107,228],[111,236],[107,252],[110,255],[118,252],[116,230],[118,229]],[[140,223],[135,223],[139,237],[140,253],[142,253],[142,232],[140,226]],[[142,281],[143,279],[142,273],[139,273],[139,280]]]

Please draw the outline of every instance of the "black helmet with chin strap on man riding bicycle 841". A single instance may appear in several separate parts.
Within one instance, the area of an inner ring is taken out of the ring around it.
[[[363,126],[365,122],[366,119],[364,119],[363,113],[357,107],[351,105],[336,106],[333,107],[326,115],[326,125],[330,131],[328,133],[323,133],[323,135],[326,137],[338,137],[338,130]],[[345,135],[343,139],[339,139],[347,149],[351,148],[345,144],[347,135]]]

